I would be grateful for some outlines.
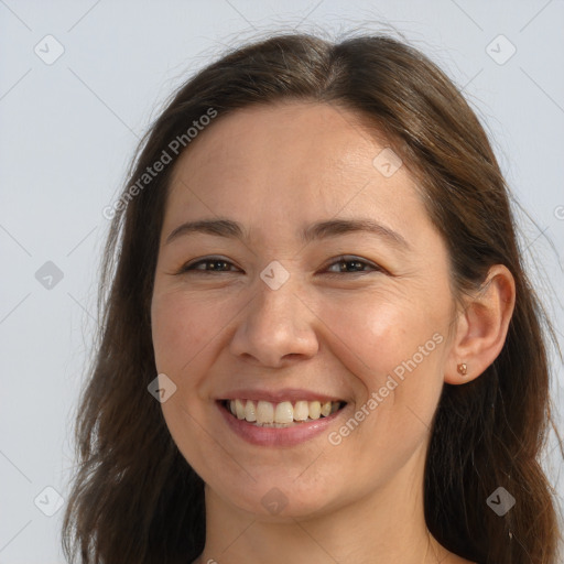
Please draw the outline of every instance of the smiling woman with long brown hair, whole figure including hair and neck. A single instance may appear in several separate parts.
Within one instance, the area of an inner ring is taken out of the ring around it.
[[[556,563],[547,322],[488,139],[424,55],[243,46],[107,212],[68,557]]]

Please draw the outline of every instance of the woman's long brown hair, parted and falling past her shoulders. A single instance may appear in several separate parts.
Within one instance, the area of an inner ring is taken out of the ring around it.
[[[148,392],[156,377],[150,303],[165,198],[194,121],[205,123],[198,120],[210,109],[220,119],[283,99],[348,109],[384,135],[417,177],[448,246],[456,296],[484,281],[492,264],[513,274],[517,304],[500,355],[471,382],[444,384],[425,466],[425,519],[441,544],[473,562],[556,564],[555,492],[538,460],[549,423],[557,434],[549,395],[551,325],[523,270],[509,191],[457,88],[417,50],[387,35],[333,44],[283,34],[245,45],[185,83],[150,128],[123,205],[112,208],[96,356],[77,411],[79,467],[63,523],[65,555],[176,564],[204,549],[204,482]],[[177,154],[175,139],[183,140]],[[171,162],[140,185],[163,151]],[[502,517],[487,505],[499,487],[516,499]]]

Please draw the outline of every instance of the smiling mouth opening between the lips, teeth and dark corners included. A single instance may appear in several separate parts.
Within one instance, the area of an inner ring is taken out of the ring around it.
[[[227,413],[257,427],[285,429],[312,423],[343,410],[346,401],[253,401],[247,399],[218,400]]]

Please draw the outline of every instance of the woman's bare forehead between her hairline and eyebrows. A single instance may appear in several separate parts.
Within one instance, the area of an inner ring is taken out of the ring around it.
[[[383,152],[382,152],[383,151]],[[220,116],[178,159],[165,223],[210,215],[283,227],[371,216],[413,229],[416,185],[360,117],[312,102],[253,106]],[[260,229],[259,229],[260,230]]]

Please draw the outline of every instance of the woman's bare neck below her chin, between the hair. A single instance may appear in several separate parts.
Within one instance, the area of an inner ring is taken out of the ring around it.
[[[436,564],[449,553],[423,512],[423,465],[414,456],[381,488],[307,518],[248,513],[206,486],[206,546],[197,564],[373,562]]]

